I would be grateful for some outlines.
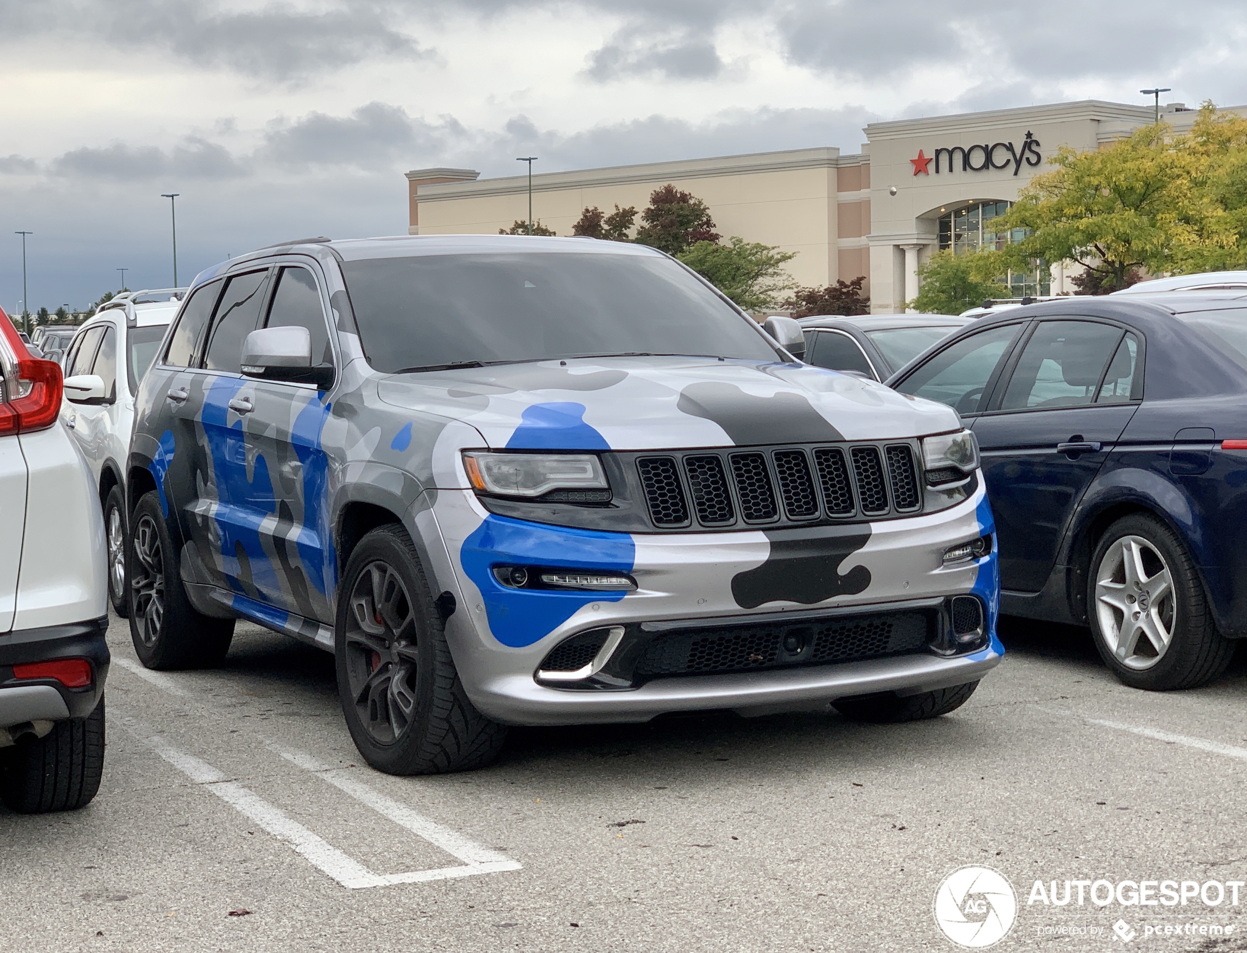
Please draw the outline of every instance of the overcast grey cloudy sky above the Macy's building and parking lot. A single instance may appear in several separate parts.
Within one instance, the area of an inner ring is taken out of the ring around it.
[[[1247,102],[1242,0],[0,0],[0,306],[308,234],[407,230],[403,172],[857,151],[874,120]]]

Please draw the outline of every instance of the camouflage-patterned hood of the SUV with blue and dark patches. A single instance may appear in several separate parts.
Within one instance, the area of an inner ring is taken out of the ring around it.
[[[897,440],[961,426],[943,404],[797,364],[713,358],[571,359],[399,374],[387,404],[475,427],[511,450]]]

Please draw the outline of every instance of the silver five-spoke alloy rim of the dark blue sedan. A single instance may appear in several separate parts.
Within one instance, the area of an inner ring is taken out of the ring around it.
[[[1165,658],[1177,627],[1173,577],[1160,551],[1124,536],[1105,552],[1095,577],[1095,613],[1109,650],[1137,671]]]

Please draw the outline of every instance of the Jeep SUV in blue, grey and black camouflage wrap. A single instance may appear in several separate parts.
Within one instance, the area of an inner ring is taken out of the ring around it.
[[[506,724],[932,718],[1001,655],[956,415],[802,365],[643,245],[324,239],[209,269],[127,482],[143,664],[217,664],[237,618],[334,652],[394,774],[485,764]]]

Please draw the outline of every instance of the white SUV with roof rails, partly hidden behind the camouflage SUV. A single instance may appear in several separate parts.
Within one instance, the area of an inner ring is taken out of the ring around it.
[[[177,313],[177,299],[170,300],[172,290],[152,294],[155,301],[137,301],[147,294],[138,292],[105,304],[75,329],[79,334],[64,360],[61,416],[82,448],[104,507],[108,600],[121,617],[130,610],[123,475],[135,425],[135,395]]]

